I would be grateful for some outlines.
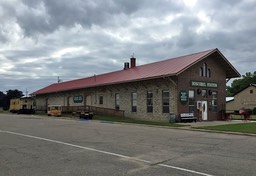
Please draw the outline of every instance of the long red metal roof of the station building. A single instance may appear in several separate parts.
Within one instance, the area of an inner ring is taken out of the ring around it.
[[[37,90],[36,92],[32,93],[32,95],[47,94],[81,88],[153,79],[163,76],[178,75],[179,73],[183,72],[193,64],[199,62],[200,60],[204,59],[205,57],[209,56],[210,54],[216,51],[219,52],[218,49],[211,49],[151,64],[136,66],[134,68],[129,68],[127,70],[119,70],[97,76],[66,81],[62,83],[55,83],[40,90]],[[225,58],[223,59],[226,60]]]

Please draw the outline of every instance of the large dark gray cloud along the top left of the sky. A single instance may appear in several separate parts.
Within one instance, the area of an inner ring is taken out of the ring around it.
[[[83,0],[23,0],[24,10],[17,16],[17,22],[25,35],[46,34],[60,27],[82,27],[103,25],[119,14],[131,14],[139,8],[129,1],[83,1]]]

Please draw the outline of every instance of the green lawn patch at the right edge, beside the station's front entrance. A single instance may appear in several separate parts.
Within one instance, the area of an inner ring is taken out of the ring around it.
[[[256,134],[256,123],[239,123],[239,124],[228,124],[218,126],[204,126],[195,127],[196,129],[207,129],[217,131],[230,131],[230,132],[241,132],[241,133],[252,133]]]

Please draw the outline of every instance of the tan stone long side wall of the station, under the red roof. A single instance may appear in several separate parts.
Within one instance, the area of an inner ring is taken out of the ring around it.
[[[115,109],[115,95],[120,96],[120,110],[125,111],[126,117],[150,120],[168,120],[168,113],[162,112],[162,91],[168,90],[169,112],[177,113],[177,90],[171,78],[123,83],[61,93],[52,93],[36,96],[36,106],[62,105],[62,106],[96,106]],[[147,112],[147,91],[153,92],[153,112]],[[131,94],[137,93],[137,112],[132,112]],[[83,96],[81,103],[74,103],[73,97]],[[103,104],[99,97],[103,96]]]

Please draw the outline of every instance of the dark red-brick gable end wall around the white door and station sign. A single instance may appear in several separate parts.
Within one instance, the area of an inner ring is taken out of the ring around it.
[[[204,77],[199,75],[200,67],[203,67],[203,64],[206,63],[207,67],[211,70],[210,77]],[[202,88],[202,87],[191,87],[190,81],[201,81],[201,82],[214,82],[218,84],[217,88]],[[200,94],[197,94],[197,89],[206,89],[217,92],[217,112],[212,112],[210,109],[210,103],[212,97],[207,93],[206,98],[203,98]],[[195,91],[195,101],[207,101],[208,102],[208,120],[221,119],[220,110],[225,107],[226,103],[226,73],[222,65],[218,62],[218,58],[213,56],[204,59],[203,61],[193,65],[188,70],[184,71],[178,77],[178,90],[194,90]],[[196,106],[196,104],[195,104]],[[196,109],[196,108],[195,108]],[[188,103],[182,105],[178,103],[179,112],[188,112],[189,107]],[[195,110],[195,116],[200,119],[201,114],[199,110]]]

